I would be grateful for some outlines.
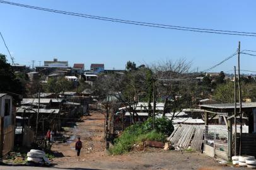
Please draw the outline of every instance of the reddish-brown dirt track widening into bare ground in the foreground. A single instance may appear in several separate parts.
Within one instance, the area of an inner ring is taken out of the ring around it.
[[[148,148],[146,151],[131,152],[122,156],[111,156],[104,149],[104,116],[92,111],[91,116],[83,116],[81,121],[71,123],[66,128],[66,135],[71,139],[66,143],[54,144],[52,150],[62,153],[54,158],[54,167],[9,167],[0,166],[0,170],[42,170],[42,169],[233,169],[221,166],[212,158],[197,152]],[[81,137],[83,149],[81,156],[76,156],[74,142]],[[88,150],[91,148],[91,150]]]

